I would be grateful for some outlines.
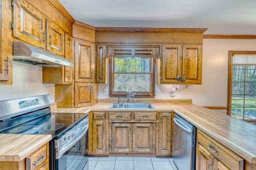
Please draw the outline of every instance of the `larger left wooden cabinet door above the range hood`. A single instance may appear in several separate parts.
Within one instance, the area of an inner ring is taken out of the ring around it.
[[[25,0],[15,0],[13,37],[45,49],[45,17]]]

